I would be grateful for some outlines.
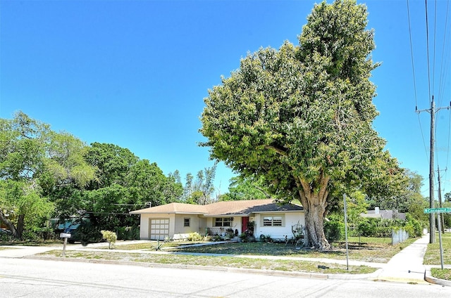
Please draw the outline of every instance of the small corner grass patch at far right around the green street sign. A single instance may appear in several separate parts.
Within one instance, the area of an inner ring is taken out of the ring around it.
[[[443,247],[443,264],[451,264],[451,233],[442,234],[442,247]],[[435,243],[428,244],[426,255],[424,256],[425,265],[438,265],[440,266],[440,241],[438,233],[435,233]],[[451,280],[451,269],[433,268],[431,270],[432,276],[435,278],[441,278]]]

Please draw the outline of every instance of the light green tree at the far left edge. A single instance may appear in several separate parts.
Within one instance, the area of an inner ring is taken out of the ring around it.
[[[85,148],[78,138],[52,131],[23,112],[0,119],[0,220],[16,238],[25,228],[39,227],[66,201],[51,193],[61,194],[70,185],[83,188],[95,179]]]

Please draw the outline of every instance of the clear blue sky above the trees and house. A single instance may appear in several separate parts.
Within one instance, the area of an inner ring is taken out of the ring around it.
[[[407,1],[358,2],[368,6],[372,56],[382,63],[371,78],[380,112],[374,127],[402,167],[424,176],[428,195],[430,115],[417,115],[415,105],[429,108],[432,94],[438,106],[451,101],[448,1],[438,0],[437,9],[428,1],[429,72],[425,1],[409,1],[415,72]],[[247,52],[297,44],[314,3],[0,0],[0,117],[22,110],[88,144],[128,148],[165,174],[178,169],[184,181],[213,164],[197,145],[208,89]],[[440,169],[449,163],[450,112],[437,115]],[[221,193],[232,176],[219,164]],[[451,175],[441,176],[450,191]]]

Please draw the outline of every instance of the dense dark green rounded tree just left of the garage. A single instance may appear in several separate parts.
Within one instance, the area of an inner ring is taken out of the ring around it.
[[[97,167],[99,178],[82,192],[79,208],[99,230],[137,228],[139,218],[128,212],[174,202],[182,194],[178,171],[165,176],[156,163],[118,145],[92,143],[86,160]]]

